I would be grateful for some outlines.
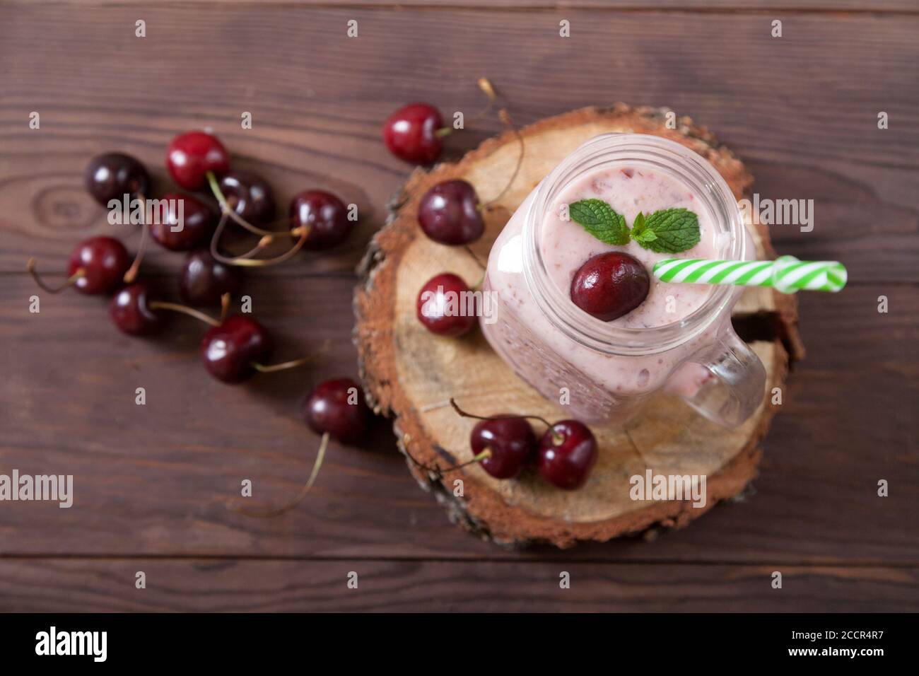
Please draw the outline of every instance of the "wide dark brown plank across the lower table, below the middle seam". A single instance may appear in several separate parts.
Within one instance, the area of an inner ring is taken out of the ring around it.
[[[0,473],[73,474],[74,507],[3,503],[0,555],[457,557],[919,564],[914,514],[919,300],[908,286],[801,295],[810,354],[766,438],[757,494],[716,507],[652,544],[626,539],[508,552],[448,524],[420,491],[380,421],[363,449],[333,445],[311,496],[275,520],[228,512],[242,478],[277,504],[308,474],[317,439],[299,402],[318,379],[356,371],[350,278],[252,275],[254,314],[278,358],[330,338],[327,358],[229,387],[199,364],[202,327],[179,317],[163,338],[122,337],[105,304],[0,284]],[[157,278],[166,289],[168,276]],[[879,294],[891,311],[876,311]],[[147,405],[134,404],[134,388]],[[891,497],[878,498],[879,478]]]

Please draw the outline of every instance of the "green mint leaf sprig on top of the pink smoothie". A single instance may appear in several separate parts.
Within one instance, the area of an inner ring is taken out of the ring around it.
[[[632,227],[606,201],[581,200],[568,206],[568,213],[591,235],[605,244],[624,246],[634,239],[659,254],[678,254],[699,241],[698,216],[688,209],[660,209],[649,216],[638,212]]]

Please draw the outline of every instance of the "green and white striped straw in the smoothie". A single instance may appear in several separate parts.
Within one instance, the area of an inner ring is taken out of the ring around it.
[[[783,293],[800,289],[838,292],[847,278],[845,266],[838,261],[798,260],[794,256],[766,261],[665,258],[654,263],[653,273],[660,281],[769,286]]]

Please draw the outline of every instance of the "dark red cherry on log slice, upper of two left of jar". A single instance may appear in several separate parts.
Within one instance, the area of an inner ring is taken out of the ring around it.
[[[418,202],[418,223],[425,235],[440,244],[474,242],[485,231],[479,197],[464,180],[437,183]]]

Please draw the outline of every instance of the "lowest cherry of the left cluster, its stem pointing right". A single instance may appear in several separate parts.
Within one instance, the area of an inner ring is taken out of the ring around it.
[[[212,327],[201,340],[201,359],[208,372],[224,383],[242,383],[255,375],[253,363],[271,356],[271,337],[253,319],[233,315]]]

